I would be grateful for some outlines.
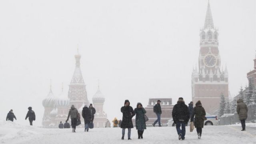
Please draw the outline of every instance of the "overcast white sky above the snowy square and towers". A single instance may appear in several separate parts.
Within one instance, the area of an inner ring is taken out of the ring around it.
[[[97,80],[108,119],[121,118],[129,99],[184,97],[191,101],[191,72],[198,62],[199,30],[208,0],[1,0],[0,120],[14,110],[18,122],[28,106],[41,125],[42,100],[68,84],[79,44],[88,99]],[[256,50],[256,1],[210,0],[219,29],[222,65],[234,96],[248,83]]]

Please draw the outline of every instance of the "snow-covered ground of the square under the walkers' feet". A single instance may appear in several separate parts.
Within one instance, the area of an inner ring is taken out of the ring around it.
[[[121,140],[120,128],[94,128],[84,132],[78,128],[45,129],[34,126],[21,126],[14,122],[0,122],[1,144],[255,144],[256,124],[247,124],[246,132],[241,132],[240,125],[205,126],[202,139],[198,140],[196,131],[189,132],[186,127],[186,139],[178,140],[174,127],[148,128],[144,139],[137,139],[136,129],[132,129],[132,140]],[[126,131],[127,134],[127,131]]]

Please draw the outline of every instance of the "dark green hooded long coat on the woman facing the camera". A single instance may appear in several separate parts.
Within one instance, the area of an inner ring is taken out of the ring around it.
[[[134,112],[136,114],[136,118],[135,118],[135,124],[136,124],[136,129],[137,130],[144,130],[146,129],[146,122],[144,119],[144,114],[146,114],[146,110],[145,108],[138,108],[138,105],[141,105],[141,103],[137,104],[137,108],[134,109]]]

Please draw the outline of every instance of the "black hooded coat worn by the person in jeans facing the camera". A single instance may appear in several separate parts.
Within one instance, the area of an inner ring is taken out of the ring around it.
[[[129,100],[125,100],[124,104],[126,102],[129,102]],[[133,108],[130,106],[130,102],[129,106],[122,106],[121,112],[123,113],[121,128],[133,128],[132,117],[135,113]]]

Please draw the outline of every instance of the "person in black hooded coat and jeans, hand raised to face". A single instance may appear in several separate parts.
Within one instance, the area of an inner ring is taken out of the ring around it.
[[[130,106],[129,100],[124,101],[124,106],[121,108],[121,112],[123,113],[123,118],[122,118],[122,140],[124,140],[124,134],[125,134],[125,129],[128,128],[128,140],[131,139],[131,128],[133,128],[132,124],[132,117],[135,115],[133,108]]]

